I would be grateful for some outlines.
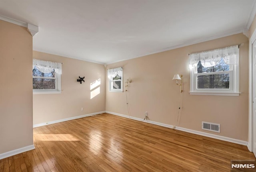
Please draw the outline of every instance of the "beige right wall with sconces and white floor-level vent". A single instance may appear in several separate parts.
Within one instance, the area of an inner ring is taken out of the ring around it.
[[[233,96],[190,95],[188,53],[237,45],[240,47],[240,94]],[[128,100],[132,117],[176,125],[179,87],[172,80],[174,74],[183,75],[183,111],[179,127],[208,132],[239,140],[248,140],[248,38],[236,34],[216,40],[197,43],[162,53],[147,55],[108,65],[123,66],[124,79],[131,78]],[[108,85],[108,80],[106,81]],[[108,86],[106,87],[108,90]],[[124,93],[106,91],[106,111],[128,115]],[[201,129],[202,121],[220,123],[221,132]]]

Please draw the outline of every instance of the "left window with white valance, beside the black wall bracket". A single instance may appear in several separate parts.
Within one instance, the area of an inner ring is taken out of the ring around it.
[[[33,93],[60,93],[61,73],[61,63],[33,59]]]

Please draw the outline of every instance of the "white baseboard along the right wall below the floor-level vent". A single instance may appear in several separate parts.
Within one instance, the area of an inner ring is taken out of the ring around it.
[[[106,113],[109,113],[109,114],[112,114],[112,115],[117,115],[117,116],[120,116],[120,117],[134,119],[134,120],[137,120],[137,121],[142,121],[143,120],[143,119],[140,119],[140,118],[129,117],[128,115],[122,115],[122,114],[119,114],[119,113],[114,113],[114,112],[109,112],[109,111],[106,111]],[[158,122],[154,122],[154,121],[142,121],[142,122],[150,123],[150,124],[154,124],[154,125],[159,125],[159,126],[167,127],[167,128],[171,128],[171,129],[173,129],[173,127],[174,127],[173,125],[158,123]],[[228,141],[228,142],[232,142],[232,143],[242,144],[242,145],[248,146],[248,142],[243,141],[243,140],[237,140],[237,139],[234,139],[234,138],[229,138],[229,137],[225,137],[225,136],[219,136],[219,135],[216,135],[216,134],[210,134],[210,133],[196,131],[196,130],[191,130],[191,129],[185,129],[185,128],[182,128],[182,127],[175,127],[175,129],[176,130],[185,131],[185,132],[190,132],[190,133],[193,133],[193,134],[198,134],[198,135],[201,135],[201,136],[210,137],[210,138],[216,138],[218,140],[224,140],[224,141]]]

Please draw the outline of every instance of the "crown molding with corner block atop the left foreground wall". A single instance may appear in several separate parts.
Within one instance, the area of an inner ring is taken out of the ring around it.
[[[36,26],[36,25],[30,24],[30,23],[25,23],[25,22],[22,22],[19,20],[15,20],[13,18],[6,17],[6,16],[0,16],[0,20],[28,28],[28,32],[30,32],[30,34],[32,36],[34,36],[38,33],[38,26]]]

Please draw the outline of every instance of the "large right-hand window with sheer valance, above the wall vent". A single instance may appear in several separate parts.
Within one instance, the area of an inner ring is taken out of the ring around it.
[[[239,95],[238,45],[190,54],[190,94]]]

